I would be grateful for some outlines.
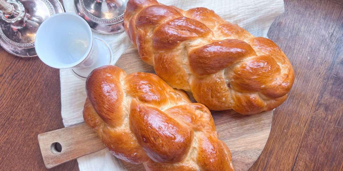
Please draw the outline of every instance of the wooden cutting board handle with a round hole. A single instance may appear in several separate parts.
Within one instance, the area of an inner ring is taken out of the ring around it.
[[[105,148],[86,123],[38,134],[38,142],[48,169]]]

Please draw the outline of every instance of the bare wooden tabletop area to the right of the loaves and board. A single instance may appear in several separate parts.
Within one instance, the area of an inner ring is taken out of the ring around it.
[[[285,0],[269,37],[296,79],[251,170],[343,170],[343,6]]]

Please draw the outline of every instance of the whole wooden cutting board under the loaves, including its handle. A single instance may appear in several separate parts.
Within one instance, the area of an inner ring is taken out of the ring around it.
[[[137,71],[155,73],[152,66],[140,59],[137,49],[133,46],[120,56],[116,66],[127,73]],[[195,102],[192,95],[189,95]],[[268,140],[273,111],[256,115],[241,115],[234,110],[211,111],[211,113],[219,139],[224,141],[231,150],[235,170],[248,170],[260,156]],[[47,168],[105,148],[97,134],[85,123],[39,134],[38,141]],[[60,152],[58,152],[59,148],[55,148],[56,143],[61,144]],[[135,165],[120,161],[130,171],[145,170],[142,164]]]

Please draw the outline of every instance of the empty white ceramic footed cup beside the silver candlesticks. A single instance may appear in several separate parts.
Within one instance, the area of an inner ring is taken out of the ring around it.
[[[59,13],[46,19],[37,30],[35,49],[45,64],[71,68],[81,78],[97,67],[110,64],[112,55],[103,40],[93,37],[87,22],[73,13]]]

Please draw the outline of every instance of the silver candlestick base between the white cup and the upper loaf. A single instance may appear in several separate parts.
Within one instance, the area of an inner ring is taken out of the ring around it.
[[[117,34],[124,31],[125,0],[74,0],[74,7],[76,13],[98,33]]]

